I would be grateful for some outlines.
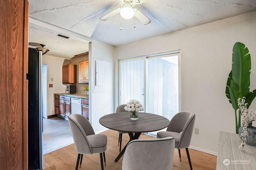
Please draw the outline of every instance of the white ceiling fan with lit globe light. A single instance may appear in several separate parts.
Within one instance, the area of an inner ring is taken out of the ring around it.
[[[106,21],[109,18],[115,16],[116,14],[120,13],[122,18],[129,20],[132,17],[136,17],[140,22],[142,22],[144,25],[147,25],[151,22],[151,20],[146,17],[140,10],[137,8],[133,8],[134,6],[138,4],[142,4],[148,0],[118,0],[123,6],[122,8],[117,8],[108,14],[102,16],[100,20]]]

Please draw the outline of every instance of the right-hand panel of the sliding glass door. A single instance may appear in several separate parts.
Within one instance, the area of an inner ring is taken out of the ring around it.
[[[148,59],[148,113],[178,113],[178,56]]]

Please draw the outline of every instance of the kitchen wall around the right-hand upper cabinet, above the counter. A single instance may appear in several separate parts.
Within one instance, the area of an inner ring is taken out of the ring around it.
[[[85,61],[88,60],[88,54],[80,56],[80,57],[74,57],[72,59],[70,59],[70,64],[75,64],[76,65],[76,93],[78,94],[85,94],[84,90],[84,86],[87,85],[88,83],[79,83],[79,77],[78,77],[78,73],[79,73],[79,62],[80,61]],[[90,62],[90,61],[89,61]]]

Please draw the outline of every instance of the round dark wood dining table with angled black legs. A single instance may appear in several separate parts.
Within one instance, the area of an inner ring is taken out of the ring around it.
[[[141,133],[159,131],[170,124],[167,118],[152,113],[138,112],[138,117],[139,119],[134,121],[130,119],[130,112],[112,113],[101,117],[99,122],[108,129],[127,132],[130,136],[130,141],[138,139]],[[118,162],[122,157],[128,143],[116,157],[115,162]]]

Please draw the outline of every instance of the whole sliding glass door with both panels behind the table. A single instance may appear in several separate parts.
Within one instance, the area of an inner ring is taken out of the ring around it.
[[[167,119],[180,111],[180,53],[120,61],[119,104],[139,100],[144,112]]]

